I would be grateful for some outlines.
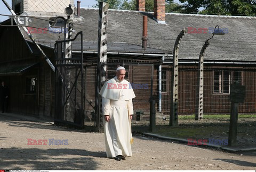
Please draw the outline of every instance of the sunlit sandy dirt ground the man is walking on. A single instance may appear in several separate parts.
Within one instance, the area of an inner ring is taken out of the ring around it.
[[[134,135],[133,156],[116,161],[106,158],[103,133],[86,133],[6,114],[0,114],[0,128],[0,169],[256,169],[256,151],[228,153]],[[47,140],[47,144],[28,145],[28,139]],[[66,141],[49,145],[49,139]]]

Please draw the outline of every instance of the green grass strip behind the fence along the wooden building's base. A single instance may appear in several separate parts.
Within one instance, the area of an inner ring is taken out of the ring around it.
[[[252,140],[255,137],[256,115],[238,114],[237,136],[241,143],[254,144],[246,139]],[[228,139],[230,115],[204,115],[202,121],[195,121],[195,115],[179,115],[179,126],[170,127],[169,123],[156,125],[156,130],[152,133],[163,136],[176,137],[182,139]],[[134,125],[132,130],[136,132],[149,132],[149,125]]]

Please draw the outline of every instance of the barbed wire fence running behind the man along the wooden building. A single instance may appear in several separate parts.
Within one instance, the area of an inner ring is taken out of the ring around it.
[[[108,66],[108,79],[115,76]],[[136,98],[133,99],[134,116],[133,126],[149,127],[150,123],[150,66],[126,65],[126,80],[133,84]],[[112,66],[113,69],[113,66]],[[94,94],[95,94],[95,66],[85,70],[85,125],[94,124]],[[162,69],[162,106],[159,107],[159,78],[154,71],[153,99],[156,101],[156,125],[169,125],[170,116],[170,84],[171,67]],[[180,66],[179,69],[179,104],[178,113],[182,115],[195,115],[196,113],[196,88],[197,65],[194,67]],[[246,96],[243,104],[239,104],[239,115],[256,114],[256,78],[254,68],[212,68],[206,67],[204,72],[204,115],[230,115],[231,102],[229,101],[230,84],[234,81],[241,82],[246,87]],[[161,109],[160,109],[161,108]],[[192,119],[194,121],[195,119]],[[202,119],[202,122],[204,119]]]

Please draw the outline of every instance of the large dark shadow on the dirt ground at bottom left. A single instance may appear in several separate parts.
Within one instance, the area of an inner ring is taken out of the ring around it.
[[[75,156],[75,157],[74,157]],[[106,152],[80,149],[0,149],[1,169],[95,170],[92,157],[105,158]]]

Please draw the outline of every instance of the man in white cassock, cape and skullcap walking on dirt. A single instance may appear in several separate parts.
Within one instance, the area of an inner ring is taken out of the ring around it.
[[[124,79],[125,68],[116,69],[115,78],[107,81],[100,95],[102,113],[105,118],[105,144],[108,158],[120,161],[132,156],[131,119],[133,115],[132,99],[135,97],[131,84]]]

